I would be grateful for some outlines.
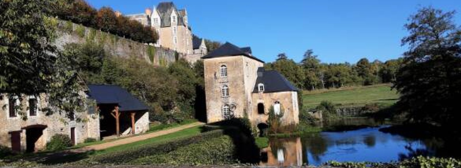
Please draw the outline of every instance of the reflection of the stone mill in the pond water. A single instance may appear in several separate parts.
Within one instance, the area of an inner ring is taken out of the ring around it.
[[[261,166],[302,166],[301,138],[274,138],[261,150]]]

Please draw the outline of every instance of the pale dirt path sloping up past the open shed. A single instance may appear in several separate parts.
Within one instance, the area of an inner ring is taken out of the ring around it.
[[[151,132],[151,133],[138,135],[138,136],[134,136],[134,137],[118,139],[118,140],[114,140],[114,141],[106,142],[106,143],[102,143],[102,144],[95,144],[95,145],[85,146],[85,147],[80,148],[80,149],[70,150],[70,152],[85,152],[85,151],[90,151],[90,150],[103,150],[103,149],[107,149],[107,148],[110,148],[110,147],[114,147],[114,146],[118,146],[118,145],[122,145],[122,144],[130,144],[130,143],[133,143],[133,142],[142,141],[142,140],[145,140],[145,139],[162,136],[162,135],[166,135],[166,134],[169,134],[169,133],[181,131],[181,130],[186,129],[186,128],[191,128],[191,127],[194,127],[194,126],[201,126],[201,125],[204,125],[204,123],[195,122],[195,123],[191,123],[191,124],[187,124],[187,125],[183,125],[183,126],[178,126],[178,127],[174,127],[174,128],[170,128],[170,129],[166,129],[166,130],[161,130],[161,131],[157,131],[157,132]]]

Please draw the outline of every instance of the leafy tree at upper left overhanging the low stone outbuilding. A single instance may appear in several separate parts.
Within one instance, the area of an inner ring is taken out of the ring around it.
[[[45,16],[49,0],[0,1],[0,93],[47,93],[46,112],[81,112],[75,60],[53,45],[58,21]],[[24,116],[27,117],[27,116]]]

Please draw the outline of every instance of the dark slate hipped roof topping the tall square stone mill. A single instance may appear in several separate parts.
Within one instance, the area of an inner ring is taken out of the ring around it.
[[[207,59],[207,58],[218,58],[218,57],[226,57],[226,56],[243,55],[253,60],[257,60],[257,61],[264,63],[264,61],[252,56],[251,53],[248,53],[248,51],[251,52],[251,48],[242,50],[242,48],[239,48],[235,46],[234,44],[231,44],[230,42],[226,42],[225,44],[219,46],[219,48],[216,48],[215,50],[213,50],[210,54],[207,54],[201,58]]]

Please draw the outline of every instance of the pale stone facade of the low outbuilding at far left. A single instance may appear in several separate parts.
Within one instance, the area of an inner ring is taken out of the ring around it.
[[[82,91],[82,94],[83,91]],[[86,138],[99,139],[99,116],[87,112],[76,113],[74,120],[65,114],[53,113],[47,115],[40,111],[47,106],[46,96],[41,94],[37,98],[36,114],[30,112],[29,100],[31,96],[23,96],[22,100],[16,101],[16,116],[10,115],[10,101],[6,94],[0,99],[0,144],[10,147],[20,145],[19,151],[38,151],[45,148],[46,143],[55,134],[65,134],[74,138],[75,144],[83,143]],[[27,119],[24,120],[23,118]],[[77,122],[75,118],[84,121]],[[71,136],[71,129],[74,134]],[[19,136],[20,140],[13,142],[13,136]],[[15,150],[15,149],[13,149]]]

